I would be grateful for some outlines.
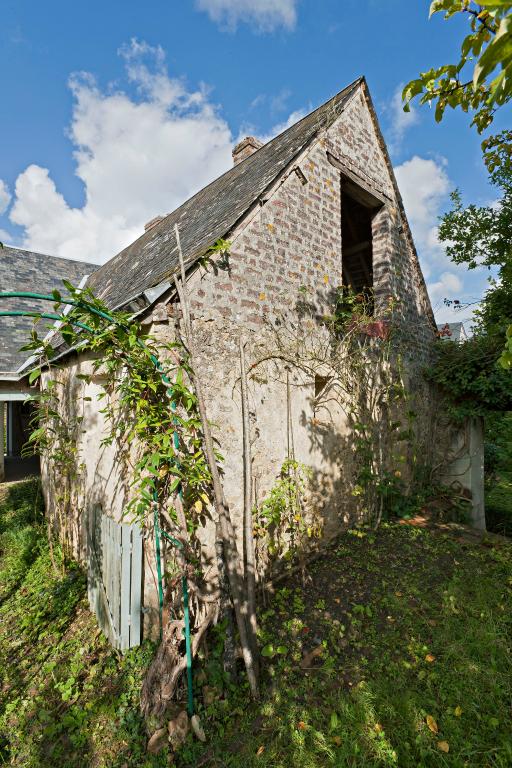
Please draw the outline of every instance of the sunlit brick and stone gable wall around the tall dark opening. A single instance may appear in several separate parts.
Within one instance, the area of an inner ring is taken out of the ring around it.
[[[200,269],[190,279],[200,376],[225,457],[228,501],[239,522],[243,475],[240,334],[247,340],[248,362],[253,364],[265,356],[270,337],[279,333],[283,318],[291,325],[300,322],[301,301],[314,306],[320,319],[332,311],[334,291],[342,283],[340,171],[329,162],[327,151],[389,198],[373,219],[376,315],[390,295],[400,300],[394,321],[406,360],[405,379],[418,411],[418,435],[425,446],[431,439],[432,393],[421,375],[434,339],[430,305],[404,231],[386,158],[366,101],[357,95],[340,119],[299,158],[300,173],[291,170],[249,221],[232,233],[229,259],[217,260],[215,269]],[[319,323],[319,336],[322,333]],[[305,379],[293,366],[288,372],[285,368],[277,362],[258,367],[250,380],[256,494],[261,500],[269,491],[286,457],[290,409],[295,455],[312,468],[316,503],[326,530],[332,532],[340,520],[350,518],[353,507],[353,438],[346,415],[337,405],[329,413],[316,413],[314,378]],[[412,463],[412,449],[408,459]]]

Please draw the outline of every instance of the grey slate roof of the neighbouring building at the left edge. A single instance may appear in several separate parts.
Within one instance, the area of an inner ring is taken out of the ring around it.
[[[79,285],[82,278],[90,275],[95,269],[98,269],[97,264],[71,261],[4,246],[0,249],[0,291],[51,293],[54,288],[57,288],[64,293],[63,279],[69,280],[73,285]],[[13,309],[35,312],[53,311],[52,305],[48,302],[32,299],[0,301],[0,311]],[[48,323],[51,325],[51,321]],[[29,356],[28,352],[20,352],[19,349],[29,341],[32,327],[31,318],[0,317],[0,376],[14,375]],[[43,331],[40,335],[43,335]]]

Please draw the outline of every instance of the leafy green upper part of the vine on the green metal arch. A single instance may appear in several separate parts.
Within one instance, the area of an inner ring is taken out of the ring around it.
[[[160,343],[148,336],[131,315],[110,312],[90,291],[78,291],[67,282],[65,286],[78,306],[61,315],[60,333],[68,345],[91,353],[93,372],[100,372],[105,380],[102,413],[109,431],[104,443],[117,441],[135,450],[127,513],[144,522],[155,498],[166,506],[181,490],[189,530],[195,530],[204,523],[211,475],[203,453],[197,399],[187,383],[186,351],[178,343]],[[55,311],[59,311],[58,291],[55,299]],[[24,349],[39,355],[52,369],[55,350],[36,330]],[[90,381],[87,375],[77,378],[85,386]],[[65,474],[66,467],[79,465],[76,436],[80,424],[70,423],[63,411],[59,387],[58,375],[45,381],[38,398],[39,425],[31,439],[50,455],[56,470]],[[176,520],[172,505],[169,513]]]

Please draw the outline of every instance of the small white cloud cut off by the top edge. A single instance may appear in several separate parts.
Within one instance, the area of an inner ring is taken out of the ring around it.
[[[293,29],[297,21],[298,0],[196,0],[212,21],[236,29],[239,22],[255,24],[260,32],[277,27]]]

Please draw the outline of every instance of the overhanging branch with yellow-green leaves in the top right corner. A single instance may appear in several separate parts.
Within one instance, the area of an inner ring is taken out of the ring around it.
[[[421,104],[435,105],[441,121],[447,107],[472,113],[471,125],[481,133],[492,123],[496,110],[512,97],[512,2],[510,0],[434,0],[430,15],[445,19],[467,15],[470,33],[463,39],[454,64],[422,72],[407,83],[402,98],[405,110],[420,97]],[[502,136],[501,144],[507,145]]]

